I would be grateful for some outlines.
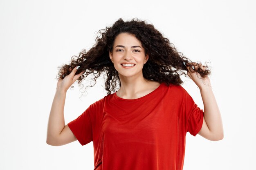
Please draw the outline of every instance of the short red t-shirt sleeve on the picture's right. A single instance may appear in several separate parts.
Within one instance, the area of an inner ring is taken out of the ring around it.
[[[183,110],[185,114],[185,129],[195,136],[202,128],[204,112],[195,104],[193,98],[184,90]]]

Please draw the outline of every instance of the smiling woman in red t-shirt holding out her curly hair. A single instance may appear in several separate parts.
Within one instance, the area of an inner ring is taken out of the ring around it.
[[[93,141],[94,170],[182,170],[186,132],[223,139],[207,66],[181,56],[153,25],[137,18],[119,19],[99,32],[95,46],[58,73],[47,144]],[[65,125],[68,88],[103,71],[108,95]],[[204,111],[180,85],[185,71],[200,88]]]

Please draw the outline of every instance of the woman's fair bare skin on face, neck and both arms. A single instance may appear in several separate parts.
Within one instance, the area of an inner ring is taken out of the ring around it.
[[[144,48],[134,35],[128,33],[119,34],[114,42],[113,51],[109,53],[115,69],[119,73],[121,87],[117,91],[117,96],[125,99],[136,99],[154,91],[159,82],[149,81],[143,77],[142,68],[148,61],[149,55],[145,55]],[[123,68],[121,63],[134,63],[133,68]],[[187,67],[189,70],[189,67]],[[202,69],[205,67],[201,66]],[[195,66],[195,70],[198,69]],[[76,67],[71,73],[58,79],[56,93],[52,102],[47,126],[46,143],[52,146],[62,146],[76,141],[76,137],[65,125],[64,105],[68,88],[84,73],[76,74]],[[211,141],[223,139],[223,127],[220,110],[211,89],[209,77],[202,79],[197,72],[188,71],[189,77],[200,88],[200,93],[204,103],[203,125],[198,133],[202,137]]]

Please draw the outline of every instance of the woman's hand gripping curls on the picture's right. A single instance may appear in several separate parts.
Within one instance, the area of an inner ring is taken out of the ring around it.
[[[195,82],[195,84],[201,89],[205,86],[211,86],[211,82],[210,79],[208,77],[208,75],[206,75],[206,77],[202,78],[201,75],[196,72],[198,70],[198,67],[201,68],[202,70],[206,70],[207,66],[203,66],[202,64],[197,64],[195,62],[191,62],[190,64],[192,64],[191,68],[189,68],[189,66],[186,66],[187,68],[187,74],[188,76],[193,80],[193,82]],[[195,66],[193,66],[195,65]],[[192,72],[191,70],[194,69],[194,72]]]

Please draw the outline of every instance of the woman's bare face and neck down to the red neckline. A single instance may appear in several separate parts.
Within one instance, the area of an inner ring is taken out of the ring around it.
[[[134,35],[120,33],[115,38],[110,60],[119,73],[121,87],[117,96],[125,99],[136,99],[154,91],[159,82],[145,79],[142,74],[143,65],[148,61],[148,55],[141,42]],[[123,68],[121,63],[134,63],[133,68]]]

